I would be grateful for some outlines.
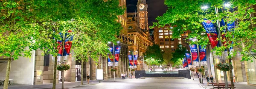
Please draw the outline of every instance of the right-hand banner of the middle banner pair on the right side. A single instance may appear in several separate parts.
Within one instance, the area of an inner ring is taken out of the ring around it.
[[[206,46],[201,47],[201,45],[199,45],[199,54],[200,54],[201,66],[207,65],[207,61],[206,61]]]

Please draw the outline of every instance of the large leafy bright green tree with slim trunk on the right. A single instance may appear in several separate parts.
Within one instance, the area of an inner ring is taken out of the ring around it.
[[[224,8],[223,6],[226,3],[231,3],[232,5],[229,8]],[[217,38],[221,39],[224,46],[215,47],[213,49],[216,51],[215,55],[224,55],[223,51],[227,50],[227,62],[230,66],[232,66],[231,58],[235,56],[237,52],[241,53],[243,61],[255,58],[250,54],[250,52],[256,52],[256,50],[253,50],[256,44],[254,41],[256,38],[256,18],[252,17],[252,14],[256,13],[252,8],[252,6],[256,4],[255,0],[230,0],[230,2],[224,0],[191,0],[186,2],[180,0],[165,0],[165,4],[169,8],[163,16],[157,17],[158,22],[155,22],[154,26],[163,26],[166,24],[177,25],[176,28],[172,29],[172,31],[174,31],[174,37],[178,37],[182,31],[189,30],[192,31],[192,33],[189,34],[189,38],[197,37],[197,39],[200,39],[198,42],[190,42],[190,44],[207,45],[209,44],[207,37],[200,35],[200,33],[205,32],[201,24],[204,22],[203,19],[207,18],[214,24],[221,19],[227,23],[236,21],[236,28],[231,29],[234,30],[232,32],[223,32],[227,30],[227,24],[221,28],[217,27],[222,31],[222,35],[225,36]],[[203,6],[210,6],[210,8],[201,9]],[[219,14],[217,14],[217,17],[214,7],[220,8],[218,9]],[[233,53],[230,53],[230,47],[238,47],[241,48],[241,50],[235,50]],[[232,67],[230,67],[230,70],[232,70]],[[233,80],[232,71],[230,71],[230,80]],[[232,89],[234,89],[233,81],[231,81],[231,85]]]

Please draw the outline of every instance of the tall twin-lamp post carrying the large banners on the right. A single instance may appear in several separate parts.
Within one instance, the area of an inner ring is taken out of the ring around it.
[[[224,4],[224,7],[230,7],[230,6],[231,6],[230,3],[225,3]],[[203,6],[203,7],[205,7],[205,6]],[[203,7],[202,7],[202,9],[207,9],[208,8],[208,6],[206,6],[205,8],[203,8]],[[217,6],[215,6],[215,14],[216,14],[216,17],[219,17],[218,16],[218,7]],[[220,30],[220,21],[219,21],[219,19],[217,20],[217,26],[218,26],[218,35],[219,35],[219,38],[221,38],[221,30]],[[220,46],[222,46],[221,39],[219,39],[219,42],[220,42]],[[224,52],[222,52],[222,53],[224,54]],[[221,59],[222,59],[221,61],[225,61],[223,55],[221,56]],[[223,71],[223,74],[224,74],[225,88],[228,89],[227,72]]]

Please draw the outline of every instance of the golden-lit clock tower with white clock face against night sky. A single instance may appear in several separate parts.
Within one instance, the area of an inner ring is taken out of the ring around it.
[[[137,22],[142,30],[148,31],[148,4],[146,0],[138,0]]]

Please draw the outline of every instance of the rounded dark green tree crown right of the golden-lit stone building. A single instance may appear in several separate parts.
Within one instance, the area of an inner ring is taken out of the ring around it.
[[[163,51],[159,45],[152,45],[147,48],[144,53],[144,58],[147,64],[162,64],[163,63]]]

